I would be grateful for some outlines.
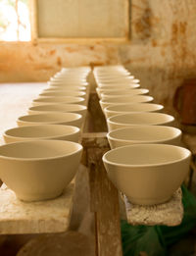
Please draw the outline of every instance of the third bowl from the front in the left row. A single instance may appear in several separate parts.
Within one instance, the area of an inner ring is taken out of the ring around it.
[[[19,127],[37,125],[66,125],[81,128],[82,116],[75,113],[44,113],[20,117],[17,121]]]

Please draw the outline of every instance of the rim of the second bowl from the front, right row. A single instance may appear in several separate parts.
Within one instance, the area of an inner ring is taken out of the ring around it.
[[[137,144],[154,144],[154,143],[159,143],[159,142],[164,142],[166,141],[167,139],[156,139],[156,140],[148,140],[148,141],[145,141],[145,140],[136,140],[136,139],[122,139],[122,138],[116,138],[116,137],[113,137],[111,135],[111,133],[114,133],[118,130],[124,130],[124,129],[137,129],[137,128],[160,128],[160,129],[171,129],[171,130],[174,130],[176,131],[176,134],[174,134],[174,136],[170,137],[169,139],[172,139],[172,138],[176,138],[176,137],[180,137],[182,132],[181,132],[181,129],[179,128],[173,128],[173,127],[167,127],[167,126],[151,126],[151,125],[138,125],[138,126],[134,126],[134,127],[126,127],[126,128],[116,128],[116,129],[113,129],[111,131],[109,131],[106,136],[108,139],[110,140],[113,140],[113,141],[122,141],[122,142],[127,142],[127,141],[130,141],[130,142],[136,142]]]

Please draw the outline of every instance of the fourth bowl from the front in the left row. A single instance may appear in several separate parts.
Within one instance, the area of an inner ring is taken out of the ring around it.
[[[86,115],[87,107],[78,104],[46,104],[41,106],[30,107],[29,115],[43,114],[46,112],[69,112],[80,114],[83,118]]]

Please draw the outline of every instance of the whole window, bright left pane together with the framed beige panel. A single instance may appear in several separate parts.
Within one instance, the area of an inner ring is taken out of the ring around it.
[[[129,13],[129,0],[0,0],[0,40],[126,41]]]

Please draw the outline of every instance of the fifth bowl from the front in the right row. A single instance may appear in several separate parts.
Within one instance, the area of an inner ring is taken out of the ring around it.
[[[144,103],[144,102],[152,102],[154,100],[151,96],[145,95],[132,95],[126,97],[115,97],[106,100],[100,100],[99,103],[101,105],[102,110],[109,106],[114,106],[123,103]]]

